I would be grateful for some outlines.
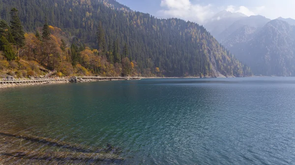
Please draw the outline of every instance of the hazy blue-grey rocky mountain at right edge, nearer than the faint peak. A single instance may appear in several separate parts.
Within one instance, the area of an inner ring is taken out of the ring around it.
[[[295,26],[277,19],[259,30],[242,27],[231,38],[225,46],[254,74],[295,75]]]

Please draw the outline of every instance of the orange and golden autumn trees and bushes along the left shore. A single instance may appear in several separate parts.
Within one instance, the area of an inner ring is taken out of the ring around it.
[[[15,77],[42,76],[52,70],[57,71],[56,76],[138,76],[135,61],[130,62],[125,57],[121,63],[112,63],[106,55],[100,55],[101,50],[70,44],[60,28],[48,25],[48,29],[47,38],[39,36],[41,28],[35,33],[25,33],[25,45],[16,59],[15,47],[10,46],[10,52],[0,51],[0,71]],[[7,40],[5,43],[9,46]],[[12,57],[8,59],[5,53]],[[111,51],[107,53],[112,54]]]

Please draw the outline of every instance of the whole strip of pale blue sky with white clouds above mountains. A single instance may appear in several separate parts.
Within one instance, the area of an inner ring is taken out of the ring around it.
[[[159,18],[177,17],[199,24],[221,10],[245,15],[295,19],[295,0],[117,0],[131,9]]]

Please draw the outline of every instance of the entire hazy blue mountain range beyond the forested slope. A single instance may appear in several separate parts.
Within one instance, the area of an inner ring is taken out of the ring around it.
[[[239,18],[230,25],[224,18],[216,24],[226,24],[227,28],[219,33],[213,30],[213,36],[254,74],[294,76],[295,20],[270,20],[258,15]]]

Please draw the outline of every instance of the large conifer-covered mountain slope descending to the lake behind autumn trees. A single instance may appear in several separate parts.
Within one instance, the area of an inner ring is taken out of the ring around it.
[[[0,18],[8,21],[12,7],[19,10],[26,31],[35,31],[47,18],[50,25],[65,32],[68,45],[83,43],[97,48],[99,55],[107,56],[114,65],[121,62],[124,47],[128,47],[128,58],[145,76],[251,75],[250,69],[203,26],[179,19],[156,19],[115,0],[1,0]],[[100,23],[101,36],[96,40]]]

